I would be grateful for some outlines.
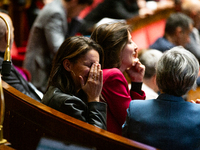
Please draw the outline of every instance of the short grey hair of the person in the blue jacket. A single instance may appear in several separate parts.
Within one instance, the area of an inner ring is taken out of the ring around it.
[[[199,63],[182,46],[166,51],[156,67],[156,81],[161,92],[182,96],[196,85]]]

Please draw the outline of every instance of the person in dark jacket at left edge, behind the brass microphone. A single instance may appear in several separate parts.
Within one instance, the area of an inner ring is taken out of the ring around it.
[[[6,11],[0,10],[0,15],[5,18],[10,26],[10,49],[14,41],[14,27],[11,18],[6,14]],[[7,47],[8,30],[5,22],[0,19],[0,70],[2,70],[2,63],[4,60],[4,53]],[[31,83],[24,79],[24,77],[16,70],[11,63],[10,75],[2,76],[2,79],[12,87],[16,88],[20,92],[30,96],[31,98],[41,101],[43,94],[38,91]]]

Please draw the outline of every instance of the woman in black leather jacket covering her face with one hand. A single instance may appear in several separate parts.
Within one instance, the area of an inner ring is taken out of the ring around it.
[[[106,104],[99,102],[103,86],[102,49],[82,36],[67,38],[52,63],[42,103],[106,129]]]

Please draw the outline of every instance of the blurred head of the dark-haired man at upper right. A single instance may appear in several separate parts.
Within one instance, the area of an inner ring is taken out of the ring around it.
[[[185,46],[190,41],[193,21],[183,13],[173,13],[167,19],[165,37],[174,45]]]

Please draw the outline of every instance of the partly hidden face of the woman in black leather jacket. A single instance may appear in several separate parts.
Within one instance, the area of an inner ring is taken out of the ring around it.
[[[90,72],[90,68],[95,62],[99,63],[99,53],[96,50],[91,49],[83,57],[79,58],[76,63],[72,64],[71,75],[77,90],[81,88],[79,76],[83,77],[85,84]]]

